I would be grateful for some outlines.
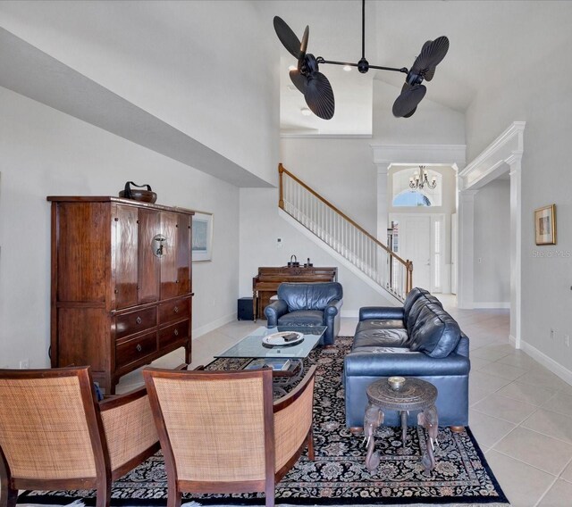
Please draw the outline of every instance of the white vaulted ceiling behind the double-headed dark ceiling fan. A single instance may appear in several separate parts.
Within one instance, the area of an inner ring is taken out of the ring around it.
[[[361,0],[279,0],[258,5],[267,12],[268,22],[279,15],[299,37],[309,25],[308,53],[356,63],[361,57]],[[449,53],[433,81],[425,83],[424,100],[465,112],[485,83],[513,79],[515,87],[526,87],[533,73],[558,72],[545,68],[543,57],[572,39],[571,21],[570,2],[367,0],[366,59],[374,65],[410,68],[426,40],[449,37]],[[336,114],[332,121],[304,117],[299,113],[306,105],[303,96],[289,89],[287,68],[294,58],[277,37],[275,44],[286,62],[281,65],[282,132],[356,134],[369,129],[371,133],[371,116],[364,111],[372,108],[372,79],[394,86],[395,97],[404,82],[405,74],[398,72],[370,70],[362,75],[355,69],[343,72],[322,65],[320,71],[332,78]],[[368,91],[361,93],[364,87]]]

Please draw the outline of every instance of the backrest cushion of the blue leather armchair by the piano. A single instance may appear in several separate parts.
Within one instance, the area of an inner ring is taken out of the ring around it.
[[[288,304],[288,311],[324,310],[332,301],[341,300],[343,294],[338,282],[282,283],[278,286],[278,299]]]

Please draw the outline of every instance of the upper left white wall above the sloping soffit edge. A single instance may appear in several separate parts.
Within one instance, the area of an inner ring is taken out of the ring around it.
[[[280,46],[255,4],[8,1],[0,26],[276,181]]]

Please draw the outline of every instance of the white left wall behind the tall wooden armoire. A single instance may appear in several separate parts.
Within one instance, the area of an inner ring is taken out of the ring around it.
[[[0,87],[0,367],[48,366],[50,204],[148,183],[159,204],[214,213],[213,262],[193,264],[196,335],[234,317],[239,190]]]

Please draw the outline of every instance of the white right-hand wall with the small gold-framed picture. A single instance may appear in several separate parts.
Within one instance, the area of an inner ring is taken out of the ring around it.
[[[568,37],[569,38],[569,37]],[[527,62],[521,76],[479,90],[467,111],[471,160],[512,121],[526,121],[522,159],[522,341],[549,361],[572,370],[572,199],[569,145],[572,137],[572,42],[540,62]],[[535,208],[556,204],[558,244],[534,244]],[[550,329],[556,337],[550,338]]]

